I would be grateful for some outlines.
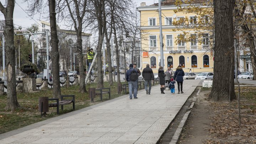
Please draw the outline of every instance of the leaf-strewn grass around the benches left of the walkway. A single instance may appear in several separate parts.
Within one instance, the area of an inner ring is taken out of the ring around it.
[[[122,82],[125,83],[125,82]],[[111,88],[111,99],[125,95],[121,92],[121,95],[117,94],[117,83],[114,82],[113,86],[108,86],[108,82],[104,82],[105,87]],[[97,84],[90,84],[86,86],[88,91],[89,87],[97,87]],[[62,95],[75,95],[75,108],[79,110],[91,105],[95,105],[99,102],[100,96],[94,98],[94,103],[91,103],[88,93],[79,93],[79,86],[70,86],[68,88],[61,87]],[[38,112],[38,97],[49,97],[52,98],[52,89],[40,90],[37,92],[28,93],[17,93],[18,103],[22,108],[15,110],[14,112],[5,111],[6,106],[6,95],[0,96],[0,134],[8,132],[10,130],[18,129],[21,127],[28,126],[30,124],[46,120],[48,118],[59,116],[57,115],[57,108],[49,108],[46,117],[40,116]],[[103,101],[108,100],[108,94],[103,95]],[[65,105],[64,111],[60,109],[60,115],[72,111],[72,104]]]

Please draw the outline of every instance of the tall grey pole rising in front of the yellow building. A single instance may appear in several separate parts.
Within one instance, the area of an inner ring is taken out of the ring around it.
[[[162,41],[162,14],[161,14],[161,0],[158,0],[158,13],[159,13],[159,29],[160,29],[160,34],[159,34],[159,39],[160,39],[160,61],[161,61],[161,66],[163,67],[164,70],[164,44]]]

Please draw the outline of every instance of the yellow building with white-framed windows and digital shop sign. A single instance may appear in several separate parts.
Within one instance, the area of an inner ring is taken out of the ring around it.
[[[150,64],[153,72],[157,73],[160,65],[158,4],[146,6],[143,2],[140,7],[137,7],[137,10],[140,12],[142,29],[142,68],[145,68],[146,64]],[[183,31],[173,31],[176,26],[172,25],[172,22],[181,18],[189,18],[190,24],[193,25],[197,21],[196,15],[183,12],[175,13],[175,10],[177,10],[177,6],[174,4],[165,3],[161,6],[164,69],[166,70],[168,66],[176,69],[178,65],[181,65],[185,72],[190,71],[190,69],[192,72],[213,72],[213,53],[210,50],[208,33],[205,34],[205,37],[200,38],[200,42],[195,40],[175,43]],[[192,28],[184,28],[185,31],[194,33]]]

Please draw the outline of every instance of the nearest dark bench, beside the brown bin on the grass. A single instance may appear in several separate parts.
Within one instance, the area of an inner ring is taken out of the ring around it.
[[[72,100],[63,99],[64,97],[72,97]],[[73,103],[73,111],[75,110],[75,95],[61,95],[60,101],[59,98],[49,98],[48,101],[56,101],[56,103],[49,103],[48,105],[49,107],[57,107],[57,114],[59,114],[59,106],[63,110],[63,105],[69,105],[70,103]]]

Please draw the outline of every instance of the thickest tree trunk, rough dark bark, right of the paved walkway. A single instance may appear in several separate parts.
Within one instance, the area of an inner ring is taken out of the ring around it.
[[[214,0],[215,46],[213,87],[209,98],[228,101],[235,96],[233,9],[235,0]],[[231,74],[232,73],[232,74]]]

